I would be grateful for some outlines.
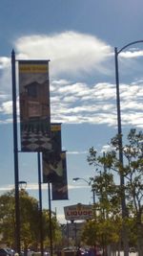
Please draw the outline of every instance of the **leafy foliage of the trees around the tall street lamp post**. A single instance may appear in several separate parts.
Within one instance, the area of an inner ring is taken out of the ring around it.
[[[91,184],[92,190],[98,195],[96,207],[100,208],[100,230],[107,226],[107,221],[112,223],[117,218],[118,223],[121,223],[121,198],[124,192],[127,206],[127,218],[124,221],[128,226],[130,242],[131,244],[135,243],[137,237],[138,247],[141,249],[143,247],[141,241],[141,230],[143,228],[143,133],[131,129],[124,141],[126,143],[121,149],[123,164],[118,157],[120,147],[118,135],[112,138],[110,151],[101,155],[92,147],[87,160],[95,170],[95,175],[91,178]],[[120,176],[124,177],[124,187],[120,186]],[[97,225],[96,229],[98,229]],[[117,228],[116,234],[118,231]],[[108,234],[104,229],[104,234],[106,233]],[[110,236],[112,236],[111,234]],[[115,242],[115,236],[112,237],[114,237]],[[109,239],[107,241],[110,242]]]

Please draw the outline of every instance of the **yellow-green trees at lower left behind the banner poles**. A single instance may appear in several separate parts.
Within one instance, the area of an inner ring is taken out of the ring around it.
[[[38,201],[29,196],[25,190],[19,191],[20,202],[20,240],[27,251],[29,246],[37,248],[40,244],[40,218]],[[0,197],[0,233],[2,242],[14,248],[15,237],[15,200],[14,190]],[[44,240],[49,239],[49,211],[43,210],[43,235]],[[55,218],[51,219],[53,239],[58,226]]]

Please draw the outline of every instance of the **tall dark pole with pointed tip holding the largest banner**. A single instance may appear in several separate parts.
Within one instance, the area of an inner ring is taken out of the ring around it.
[[[11,52],[11,77],[12,77],[13,153],[14,153],[14,180],[15,180],[15,246],[16,246],[16,252],[20,255],[20,211],[19,211],[16,78],[15,78],[15,53],[13,50]]]

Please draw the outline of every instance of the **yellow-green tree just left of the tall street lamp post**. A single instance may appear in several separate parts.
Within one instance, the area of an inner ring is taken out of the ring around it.
[[[95,166],[96,171],[96,174],[91,177],[92,190],[94,190],[96,195],[96,215],[92,226],[96,235],[92,236],[92,240],[94,240],[94,244],[97,243],[102,246],[103,255],[106,255],[107,245],[111,244],[112,247],[115,247],[120,242],[122,220],[120,199],[118,197],[119,187],[115,185],[113,175],[110,173],[109,165],[107,165],[106,156],[99,156],[96,161],[97,152],[92,148],[90,153],[93,158],[89,155],[88,161]],[[92,223],[93,221],[90,224]],[[89,234],[89,242],[90,240],[91,234]]]

